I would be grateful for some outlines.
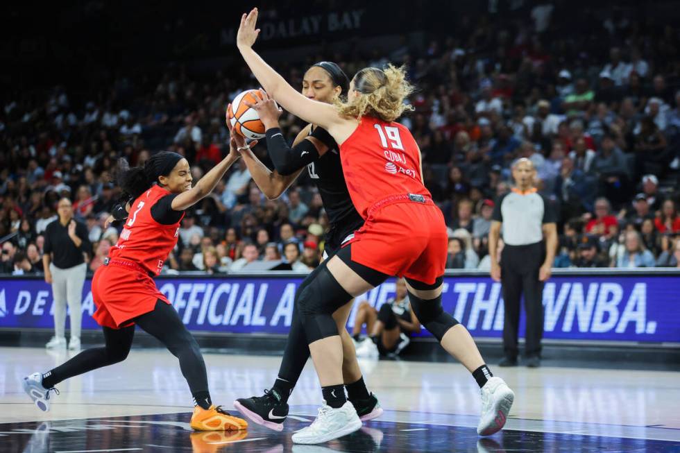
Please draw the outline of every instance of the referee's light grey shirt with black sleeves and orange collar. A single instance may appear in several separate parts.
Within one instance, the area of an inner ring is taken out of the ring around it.
[[[513,189],[501,196],[492,220],[502,222],[503,241],[509,246],[527,246],[543,241],[543,224],[556,223],[554,207],[535,188]]]

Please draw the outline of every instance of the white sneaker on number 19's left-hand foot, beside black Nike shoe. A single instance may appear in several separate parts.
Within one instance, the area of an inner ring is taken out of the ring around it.
[[[324,443],[351,434],[361,427],[362,420],[359,420],[351,402],[348,401],[342,407],[333,409],[324,401],[312,425],[296,431],[293,434],[293,442]]]

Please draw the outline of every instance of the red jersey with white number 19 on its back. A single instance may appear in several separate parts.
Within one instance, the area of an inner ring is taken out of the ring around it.
[[[347,188],[357,211],[392,195],[430,196],[420,178],[420,152],[411,132],[400,123],[363,117],[340,145]]]

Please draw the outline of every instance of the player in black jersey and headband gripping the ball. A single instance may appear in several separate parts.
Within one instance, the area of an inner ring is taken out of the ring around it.
[[[349,79],[338,65],[332,62],[318,62],[305,73],[302,93],[309,99],[332,103],[337,96],[346,94],[348,87]],[[264,101],[250,106],[257,110],[264,123],[267,150],[275,166],[274,171],[269,170],[247,146],[242,146],[241,155],[250,170],[250,175],[267,198],[273,199],[278,198],[307,167],[309,178],[312,178],[318,188],[330,222],[330,229],[325,237],[324,256],[334,255],[342,243],[351,239],[355,230],[364,224],[350,199],[338,146],[330,148],[325,146],[316,137],[323,137],[323,141],[327,142],[330,137],[328,133],[309,124],[300,131],[291,148],[278,127],[280,109],[269,96],[264,94]],[[227,123],[230,126],[229,121]],[[298,291],[302,291],[315,277],[316,271],[309,274]],[[354,344],[345,327],[349,314],[350,309],[340,309],[333,314],[338,330],[342,332],[343,379],[348,399],[357,410],[359,418],[372,420],[382,415],[382,409],[377,398],[368,393],[364,384]],[[265,391],[263,396],[236,400],[235,407],[253,422],[281,431],[288,414],[287,400],[308,358],[309,347],[305,332],[300,323],[297,307],[294,307],[291,330],[273,387]]]

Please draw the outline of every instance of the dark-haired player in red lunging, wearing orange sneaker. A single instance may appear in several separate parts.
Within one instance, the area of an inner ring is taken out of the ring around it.
[[[135,324],[155,336],[180,361],[194,397],[191,427],[201,431],[246,429],[245,420],[230,416],[210,400],[205,363],[196,339],[151,279],[175,247],[184,211],[210,194],[239,158],[235,139],[230,153],[194,187],[189,162],[178,153],[162,151],[121,174],[124,191],[133,199],[120,239],[92,278],[94,319],[102,326],[105,346],[88,349],[47,373],[24,378],[24,390],[42,411],[49,410],[50,392],[69,377],[123,361],[130,352]],[[123,163],[126,163],[123,161]],[[127,210],[119,219],[123,219]]]

